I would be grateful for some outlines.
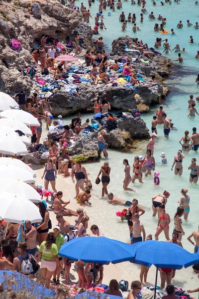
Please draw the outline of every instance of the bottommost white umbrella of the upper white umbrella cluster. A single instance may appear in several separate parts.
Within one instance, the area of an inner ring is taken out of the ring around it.
[[[17,134],[16,136],[0,134],[0,152],[11,155],[28,153]]]

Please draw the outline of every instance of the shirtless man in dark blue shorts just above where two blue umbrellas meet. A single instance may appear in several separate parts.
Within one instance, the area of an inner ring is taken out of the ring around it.
[[[141,233],[143,234],[143,241],[146,238],[145,229],[142,222],[139,221],[139,217],[138,213],[133,214],[133,226],[130,231],[131,244],[142,241]]]

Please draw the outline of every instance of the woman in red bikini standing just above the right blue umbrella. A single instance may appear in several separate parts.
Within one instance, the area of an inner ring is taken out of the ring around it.
[[[155,233],[155,240],[158,240],[158,236],[164,231],[165,238],[170,240],[169,238],[169,224],[171,222],[169,213],[165,211],[165,205],[159,205],[159,219],[158,219],[158,226]]]

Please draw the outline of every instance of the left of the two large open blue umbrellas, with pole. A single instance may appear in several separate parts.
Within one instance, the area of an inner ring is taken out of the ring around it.
[[[61,246],[60,256],[85,263],[94,263],[94,286],[96,264],[117,264],[132,260],[132,247],[129,244],[106,237],[83,237],[71,240]]]

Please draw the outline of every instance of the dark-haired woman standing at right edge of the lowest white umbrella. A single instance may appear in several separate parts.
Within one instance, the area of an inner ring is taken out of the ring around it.
[[[43,202],[39,202],[37,206],[39,208],[42,221],[39,223],[39,226],[36,226],[35,228],[37,230],[37,239],[39,240],[39,245],[41,245],[41,243],[46,240],[46,237],[48,235],[48,222],[50,218],[49,212],[47,211],[46,206]]]

